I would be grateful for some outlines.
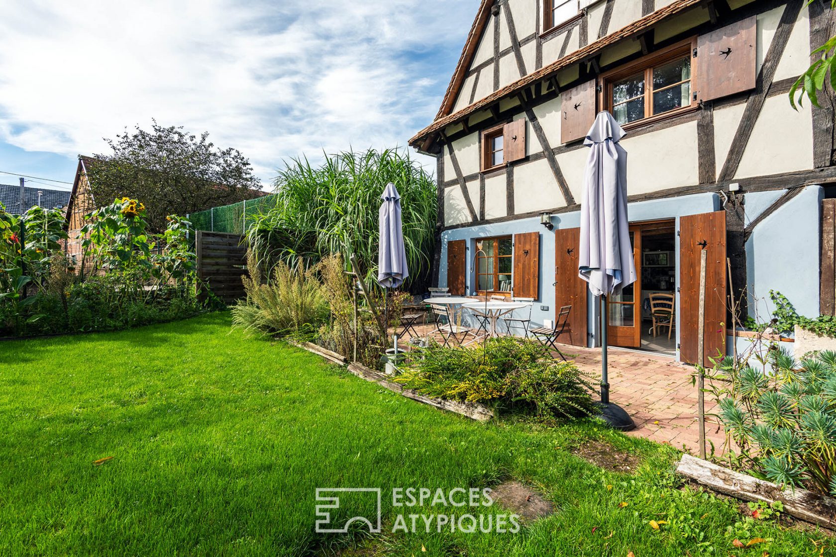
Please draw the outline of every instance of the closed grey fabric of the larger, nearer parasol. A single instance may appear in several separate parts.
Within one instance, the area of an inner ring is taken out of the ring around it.
[[[607,296],[635,282],[627,220],[627,151],[624,129],[599,112],[584,140],[589,157],[580,210],[579,274],[594,296]]]

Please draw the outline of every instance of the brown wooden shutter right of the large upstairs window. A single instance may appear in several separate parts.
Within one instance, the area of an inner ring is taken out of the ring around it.
[[[720,99],[755,89],[756,23],[752,16],[696,39],[697,99]]]

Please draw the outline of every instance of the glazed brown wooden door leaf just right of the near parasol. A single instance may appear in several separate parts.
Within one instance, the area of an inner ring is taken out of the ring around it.
[[[607,296],[607,344],[641,347],[641,228],[630,226],[635,282],[618,294]]]

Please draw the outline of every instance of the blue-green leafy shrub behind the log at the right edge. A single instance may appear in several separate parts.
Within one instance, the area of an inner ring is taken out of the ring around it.
[[[808,485],[836,495],[836,352],[821,352],[800,365],[773,348],[774,374],[718,366],[730,381],[720,419],[742,457],[777,484]]]

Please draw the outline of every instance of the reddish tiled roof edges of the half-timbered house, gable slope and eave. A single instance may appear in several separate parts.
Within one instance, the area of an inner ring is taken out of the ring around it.
[[[665,6],[665,8],[660,8],[644,18],[638,19],[635,22],[620,28],[615,33],[610,33],[604,38],[599,38],[597,41],[589,43],[584,48],[579,48],[575,52],[568,54],[563,58],[558,58],[558,60],[555,60],[547,66],[543,66],[543,68],[540,68],[535,72],[528,73],[528,75],[523,78],[519,78],[511,84],[507,84],[505,87],[497,89],[484,99],[478,100],[473,104],[469,104],[458,112],[449,114],[452,104],[456,102],[456,96],[461,89],[461,84],[464,82],[464,75],[467,72],[467,68],[470,67],[470,62],[476,52],[476,45],[479,42],[479,36],[482,33],[482,28],[484,28],[485,22],[487,21],[487,15],[490,14],[492,3],[487,2],[487,0],[483,0],[482,6],[480,6],[479,13],[477,14],[477,19],[471,28],[471,34],[467,37],[465,48],[462,51],[461,58],[456,66],[456,72],[453,73],[453,78],[451,79],[450,85],[447,87],[447,92],[445,94],[444,101],[441,104],[441,109],[436,115],[436,120],[415,134],[412,139],[410,139],[409,143],[418,149],[424,149],[422,144],[431,134],[435,134],[446,128],[448,125],[455,124],[457,121],[464,119],[466,116],[469,116],[479,110],[489,109],[492,104],[497,103],[500,99],[517,91],[521,91],[526,87],[530,87],[539,81],[551,78],[558,73],[559,70],[568,68],[575,63],[588,60],[589,58],[594,57],[594,55],[599,53],[599,51],[603,48],[617,43],[624,38],[630,38],[642,33],[646,29],[653,27],[656,23],[659,23],[661,20],[668,18],[675,13],[680,13],[686,8],[696,6],[696,4],[701,2],[702,0],[677,0],[674,3]],[[482,18],[484,18],[485,21],[482,21]]]

